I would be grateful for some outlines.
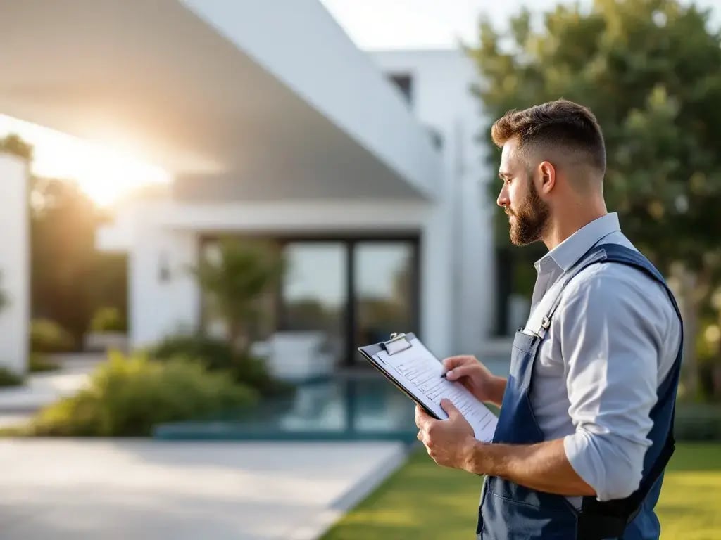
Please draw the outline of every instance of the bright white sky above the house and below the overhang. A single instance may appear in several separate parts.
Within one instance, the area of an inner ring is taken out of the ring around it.
[[[452,48],[474,45],[477,22],[486,14],[503,25],[525,0],[320,0],[363,50]],[[588,4],[590,0],[580,0]],[[689,1],[689,0],[686,0]],[[558,0],[534,0],[534,11],[552,9]],[[721,0],[696,0],[704,7]],[[112,205],[123,194],[149,182],[167,182],[161,168],[69,135],[19,122],[0,114],[0,137],[17,132],[35,145],[35,174],[73,178],[99,204]]]

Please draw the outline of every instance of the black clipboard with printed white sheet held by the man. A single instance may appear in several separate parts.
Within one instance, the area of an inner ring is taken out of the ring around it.
[[[441,407],[441,400],[447,398],[471,425],[477,440],[492,441],[497,417],[463,384],[446,379],[441,361],[415,334],[394,333],[388,341],[358,347],[358,352],[431,418],[448,418]]]

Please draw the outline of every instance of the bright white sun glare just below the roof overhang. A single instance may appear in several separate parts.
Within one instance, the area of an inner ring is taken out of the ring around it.
[[[142,186],[170,179],[163,168],[117,150],[0,114],[0,137],[9,133],[32,144],[34,174],[75,180],[103,207]]]

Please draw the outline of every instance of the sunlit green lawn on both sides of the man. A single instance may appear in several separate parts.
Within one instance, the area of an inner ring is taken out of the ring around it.
[[[469,540],[480,487],[420,449],[323,540]],[[721,444],[676,445],[657,510],[662,540],[721,539]]]

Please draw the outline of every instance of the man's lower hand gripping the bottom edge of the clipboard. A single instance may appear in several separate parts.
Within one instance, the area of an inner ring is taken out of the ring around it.
[[[417,438],[437,464],[467,469],[477,443],[473,428],[449,400],[441,400],[441,407],[448,413],[448,420],[432,418],[420,405],[415,406]]]

